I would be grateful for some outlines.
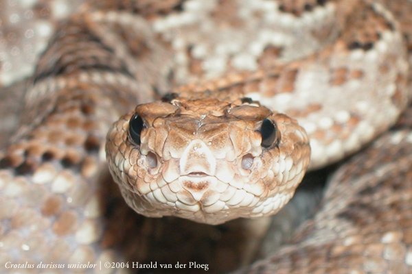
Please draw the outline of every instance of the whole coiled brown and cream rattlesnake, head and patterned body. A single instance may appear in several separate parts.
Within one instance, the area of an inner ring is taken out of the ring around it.
[[[1,268],[126,260],[117,238],[145,235],[122,210],[107,221],[108,192],[148,217],[275,214],[307,169],[407,108],[411,12],[406,0],[90,0],[52,18],[32,71],[14,75],[29,78],[0,153]],[[410,273],[412,134],[398,125],[337,171],[290,245],[239,271]]]

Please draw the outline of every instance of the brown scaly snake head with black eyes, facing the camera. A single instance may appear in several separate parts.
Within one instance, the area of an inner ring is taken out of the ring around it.
[[[122,116],[106,155],[140,214],[219,224],[279,211],[304,176],[310,147],[297,121],[253,101],[173,97]]]

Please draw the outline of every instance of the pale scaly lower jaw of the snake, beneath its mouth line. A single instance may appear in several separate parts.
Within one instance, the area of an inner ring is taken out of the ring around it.
[[[279,192],[273,197],[260,197],[232,186],[236,184],[241,182],[226,184],[213,176],[186,175],[144,195],[121,188],[128,205],[139,214],[177,216],[209,225],[275,214],[293,196],[293,192]]]

